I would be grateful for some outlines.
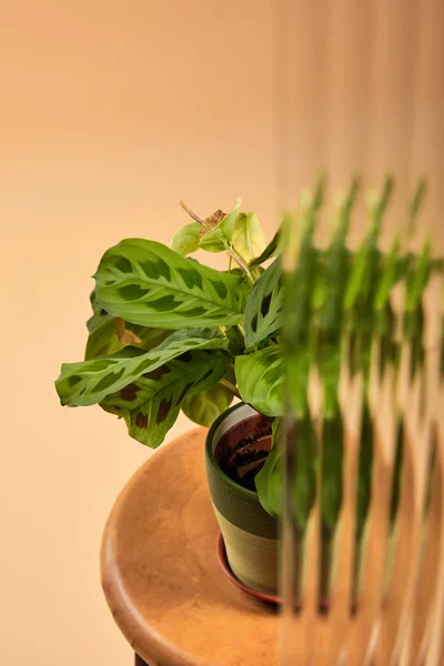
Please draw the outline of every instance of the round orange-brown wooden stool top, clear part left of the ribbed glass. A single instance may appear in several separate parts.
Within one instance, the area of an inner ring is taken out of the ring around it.
[[[205,433],[163,445],[120,494],[103,535],[103,591],[140,666],[272,666],[275,608],[218,562]]]

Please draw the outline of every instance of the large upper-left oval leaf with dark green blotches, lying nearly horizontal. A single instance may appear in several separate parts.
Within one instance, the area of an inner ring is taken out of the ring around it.
[[[94,278],[107,312],[160,329],[238,324],[249,291],[239,275],[220,273],[141,239],[127,239],[108,250]]]

